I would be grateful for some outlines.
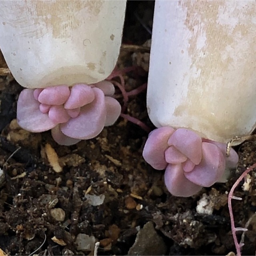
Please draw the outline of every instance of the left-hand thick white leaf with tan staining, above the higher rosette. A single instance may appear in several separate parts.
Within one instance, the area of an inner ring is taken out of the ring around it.
[[[0,0],[0,48],[27,88],[104,80],[119,54],[126,1]]]

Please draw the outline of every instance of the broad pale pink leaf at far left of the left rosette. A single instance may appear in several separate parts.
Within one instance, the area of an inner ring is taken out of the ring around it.
[[[44,132],[56,126],[48,114],[40,111],[39,105],[32,89],[22,90],[17,103],[17,122],[20,127],[29,132]]]

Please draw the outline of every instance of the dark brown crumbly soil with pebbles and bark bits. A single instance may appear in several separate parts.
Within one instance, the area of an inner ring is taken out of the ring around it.
[[[148,51],[140,46],[151,37],[153,10],[153,1],[128,1],[123,39],[128,46],[121,48],[118,69],[138,64],[141,68],[123,74],[127,91],[147,80]],[[0,68],[6,68],[1,57]],[[50,132],[19,128],[15,118],[21,90],[10,75],[0,76],[0,255],[235,252],[228,192],[256,162],[255,136],[235,148],[240,160],[228,182],[177,198],[164,187],[163,172],[142,158],[148,132],[140,126],[120,117],[92,140],[60,146]],[[122,97],[118,100],[123,104]],[[129,97],[126,114],[154,128],[146,112],[146,91]],[[242,200],[232,202],[234,218],[240,227],[250,218],[242,253],[255,255],[255,174],[243,184],[235,192]],[[143,230],[149,230],[148,236]],[[241,235],[238,232],[239,240]]]

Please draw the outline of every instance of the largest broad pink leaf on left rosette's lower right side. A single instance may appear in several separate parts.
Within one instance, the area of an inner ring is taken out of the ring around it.
[[[97,136],[106,122],[105,96],[99,88],[92,88],[94,101],[83,106],[76,118],[60,125],[60,130],[68,137],[87,140]]]

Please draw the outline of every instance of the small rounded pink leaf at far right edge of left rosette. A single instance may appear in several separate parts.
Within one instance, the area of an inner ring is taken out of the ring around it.
[[[108,96],[105,96],[105,102],[107,110],[105,126],[110,126],[114,124],[114,122],[116,122],[117,118],[120,116],[121,105],[116,99]]]

